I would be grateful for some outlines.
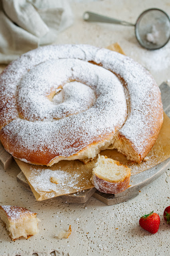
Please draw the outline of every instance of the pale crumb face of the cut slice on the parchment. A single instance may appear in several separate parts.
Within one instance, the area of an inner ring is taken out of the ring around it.
[[[120,182],[130,175],[130,168],[106,156],[100,156],[93,168],[93,175],[109,182]],[[93,179],[93,176],[92,176]]]

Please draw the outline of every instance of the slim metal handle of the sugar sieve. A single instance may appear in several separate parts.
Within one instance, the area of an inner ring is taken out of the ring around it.
[[[103,16],[103,15],[94,13],[94,12],[84,12],[83,20],[92,21],[92,22],[105,22],[105,23],[121,24],[121,25],[125,25],[125,26],[135,26],[135,24],[132,24],[130,22],[123,21],[123,20],[117,20],[114,18],[110,18],[107,16]]]

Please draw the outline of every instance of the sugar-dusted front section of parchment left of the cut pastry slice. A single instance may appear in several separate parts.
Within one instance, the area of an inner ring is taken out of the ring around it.
[[[88,164],[79,160],[60,161],[51,167],[27,164],[16,158],[15,160],[38,201],[93,188],[90,178],[96,160]],[[52,183],[51,177],[58,178],[58,184]]]

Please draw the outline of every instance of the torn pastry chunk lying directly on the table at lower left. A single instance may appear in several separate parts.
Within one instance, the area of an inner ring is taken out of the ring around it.
[[[0,218],[4,222],[9,236],[12,240],[29,238],[38,233],[37,213],[31,212],[19,206],[1,205]]]

